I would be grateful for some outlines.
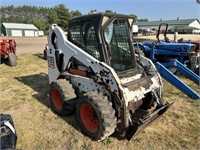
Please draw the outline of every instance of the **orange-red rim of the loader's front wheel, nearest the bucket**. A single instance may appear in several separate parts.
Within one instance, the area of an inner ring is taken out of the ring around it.
[[[99,128],[99,120],[94,108],[88,104],[83,103],[80,107],[80,118],[84,127],[92,133],[97,132]]]

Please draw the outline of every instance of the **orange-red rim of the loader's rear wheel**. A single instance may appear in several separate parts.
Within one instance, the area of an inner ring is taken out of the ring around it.
[[[58,110],[62,109],[62,100],[57,88],[54,88],[52,90],[52,101],[56,109]]]

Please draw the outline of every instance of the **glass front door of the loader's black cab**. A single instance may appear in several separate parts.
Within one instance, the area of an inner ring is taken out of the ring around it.
[[[127,19],[114,19],[104,27],[104,39],[110,52],[110,65],[124,74],[128,70],[135,70],[136,61],[130,38],[130,25]]]

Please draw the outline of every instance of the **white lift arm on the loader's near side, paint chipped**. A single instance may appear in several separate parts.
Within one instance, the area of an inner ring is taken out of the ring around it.
[[[56,39],[54,39],[56,37]],[[49,53],[48,54],[48,59],[49,56],[51,55],[52,57],[55,57],[53,53],[56,49],[59,49],[61,53],[64,54],[63,58],[63,65],[62,65],[62,70],[65,71],[65,69],[68,66],[69,59],[71,57],[76,58],[79,60],[81,63],[83,63],[85,66],[90,67],[93,72],[98,77],[99,82],[103,82],[106,85],[108,85],[111,89],[111,91],[118,91],[120,86],[120,80],[115,73],[115,71],[109,67],[107,64],[103,62],[99,62],[97,59],[77,47],[76,45],[72,44],[69,42],[65,36],[65,33],[62,31],[60,27],[57,25],[53,25],[49,29],[49,36],[48,36],[48,47],[49,47]],[[56,48],[56,49],[55,49]],[[52,52],[51,52],[52,51]],[[52,59],[53,60],[53,59]],[[54,58],[55,61],[55,58]],[[50,65],[50,64],[49,64]],[[55,66],[56,67],[56,66]],[[54,72],[55,70],[53,68],[49,67],[49,71]],[[68,72],[65,72],[68,73]],[[49,76],[49,82],[53,82],[56,80],[55,74],[51,75],[50,73]],[[53,77],[54,76],[54,77]],[[122,87],[121,87],[122,89]]]

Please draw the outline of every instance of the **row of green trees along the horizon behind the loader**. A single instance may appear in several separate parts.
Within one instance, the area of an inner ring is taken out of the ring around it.
[[[2,23],[25,23],[34,24],[39,30],[47,31],[51,24],[58,24],[64,30],[67,30],[68,21],[73,17],[81,16],[78,10],[70,11],[64,4],[58,4],[54,7],[37,6],[2,6],[0,7],[0,18]],[[97,10],[91,10],[88,14],[95,13]],[[106,10],[108,13],[116,13]],[[139,20],[136,15],[130,14]],[[148,21],[140,19],[139,21]]]

